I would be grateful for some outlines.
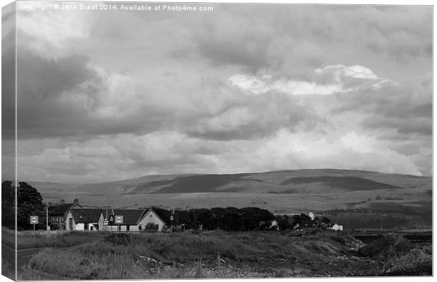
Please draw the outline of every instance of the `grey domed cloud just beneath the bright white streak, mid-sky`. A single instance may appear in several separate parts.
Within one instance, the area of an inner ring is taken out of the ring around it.
[[[188,125],[185,133],[213,140],[249,140],[273,135],[281,128],[294,131],[323,122],[312,109],[284,94],[244,97],[242,101],[242,105]]]

